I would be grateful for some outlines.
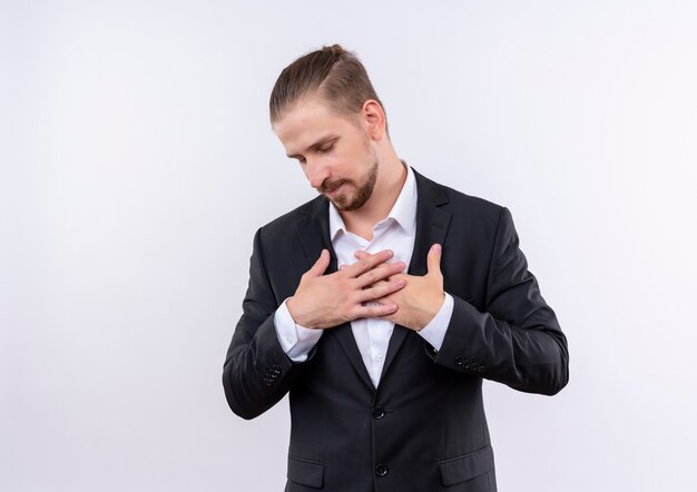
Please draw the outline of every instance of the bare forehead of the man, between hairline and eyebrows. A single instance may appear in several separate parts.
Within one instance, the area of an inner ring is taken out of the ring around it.
[[[324,100],[305,98],[287,109],[274,124],[274,131],[288,154],[295,154],[314,145],[330,134],[357,131],[354,122],[341,115]]]

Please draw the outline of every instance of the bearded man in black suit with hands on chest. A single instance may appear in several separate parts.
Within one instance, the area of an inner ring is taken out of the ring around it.
[[[286,491],[495,491],[482,378],[568,381],[510,213],[401,161],[340,46],[283,70],[271,120],[321,196],[256,233],[230,409],[253,419],[289,393]]]

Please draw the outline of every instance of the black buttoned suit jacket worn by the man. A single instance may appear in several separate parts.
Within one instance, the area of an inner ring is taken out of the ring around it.
[[[416,239],[409,273],[443,245],[454,298],[440,351],[396,325],[379,387],[348,323],[326,329],[307,361],[292,362],[274,313],[323,248],[332,252],[322,196],[254,238],[243,315],[224,365],[230,409],[253,419],[289,392],[286,491],[495,491],[482,378],[554,394],[568,381],[567,341],[528,272],[508,209],[415,173]]]

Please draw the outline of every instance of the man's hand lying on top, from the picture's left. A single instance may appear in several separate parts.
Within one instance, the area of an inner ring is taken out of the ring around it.
[[[367,255],[338,272],[323,275],[330,266],[330,252],[323,249],[312,268],[302,276],[295,295],[286,303],[295,324],[324,329],[363,317],[387,316],[396,312],[395,303],[373,303],[405,285],[402,278],[386,281],[406,267],[404,262],[386,263],[392,256],[393,253],[385,249]]]

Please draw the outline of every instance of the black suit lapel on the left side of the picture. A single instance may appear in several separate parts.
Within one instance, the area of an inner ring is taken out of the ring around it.
[[[328,204],[325,198],[317,197],[310,204],[306,218],[301,220],[297,225],[297,233],[307,259],[307,269],[317,260],[322,249],[328,249],[332,260],[326,269],[326,274],[336,272],[336,254],[334,253],[330,237]],[[359,376],[361,376],[361,380],[363,380],[371,390],[374,390],[375,386],[367,374],[367,370],[361,357],[361,352],[353,336],[351,323],[343,323],[333,328],[328,328],[322,336],[336,337],[342,350],[346,353],[351,365],[356,373],[359,373]]]

